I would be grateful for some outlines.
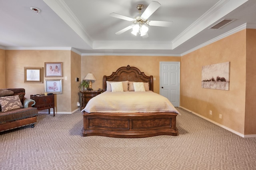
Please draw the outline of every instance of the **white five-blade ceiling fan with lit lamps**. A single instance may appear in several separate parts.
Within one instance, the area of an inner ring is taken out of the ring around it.
[[[131,21],[133,22],[132,25],[116,32],[117,35],[120,35],[130,29],[132,29],[132,34],[134,34],[135,36],[137,36],[137,34],[139,34],[140,36],[142,36],[142,38],[147,38],[148,37],[148,26],[160,26],[160,27],[170,27],[172,25],[172,22],[168,22],[168,21],[151,21],[148,20],[148,18],[161,6],[161,4],[159,4],[156,1],[152,1],[148,7],[146,8],[146,10],[142,13],[141,16],[137,16],[135,18],[130,18],[127,16],[123,16],[120,14],[116,14],[116,13],[110,13],[110,16],[115,17],[115,18],[120,18],[122,20],[127,20],[127,21]],[[137,9],[139,10],[139,13],[141,12],[142,8],[144,6],[142,4],[138,4],[137,5]]]

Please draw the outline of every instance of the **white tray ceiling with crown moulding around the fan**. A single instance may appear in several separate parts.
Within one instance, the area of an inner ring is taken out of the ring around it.
[[[149,0],[0,0],[1,49],[72,49],[81,55],[182,56],[244,28],[256,28],[256,0],[155,0],[160,8],[148,20],[172,21],[148,26],[148,38],[112,12],[134,18],[136,6]],[[36,14],[30,7],[41,10]],[[209,29],[222,19],[236,19]]]

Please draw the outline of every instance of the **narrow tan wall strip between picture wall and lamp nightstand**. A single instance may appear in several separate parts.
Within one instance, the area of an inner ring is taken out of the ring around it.
[[[81,55],[71,51],[71,111],[78,109],[77,102],[80,100],[79,84],[81,80]],[[79,81],[76,82],[76,77]]]

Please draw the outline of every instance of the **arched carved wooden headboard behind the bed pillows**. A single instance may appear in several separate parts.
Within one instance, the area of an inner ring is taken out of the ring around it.
[[[106,81],[135,81],[135,82],[148,82],[149,90],[153,91],[153,76],[147,76],[144,72],[141,72],[137,67],[120,67],[111,75],[103,76],[103,91],[107,90]]]

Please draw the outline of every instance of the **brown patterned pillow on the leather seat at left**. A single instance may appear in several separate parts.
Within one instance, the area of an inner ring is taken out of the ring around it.
[[[0,97],[0,105],[2,112],[10,111],[13,109],[23,108],[22,103],[18,95],[16,96],[6,96]]]

